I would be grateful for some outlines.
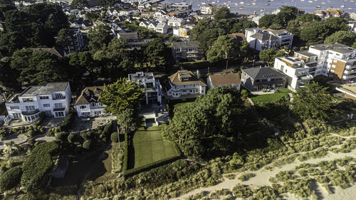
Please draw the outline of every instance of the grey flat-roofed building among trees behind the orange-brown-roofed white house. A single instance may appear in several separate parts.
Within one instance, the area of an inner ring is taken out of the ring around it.
[[[174,60],[200,60],[204,58],[203,48],[199,41],[185,41],[172,43]]]

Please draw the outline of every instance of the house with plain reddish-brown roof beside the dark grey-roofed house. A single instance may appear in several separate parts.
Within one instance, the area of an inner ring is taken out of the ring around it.
[[[241,80],[239,73],[226,73],[209,75],[206,80],[208,88],[215,88],[219,86],[231,86],[240,90]]]

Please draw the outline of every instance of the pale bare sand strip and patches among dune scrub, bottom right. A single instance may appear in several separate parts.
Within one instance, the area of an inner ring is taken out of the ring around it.
[[[339,135],[337,135],[339,136]],[[340,137],[340,136],[339,136]],[[344,137],[345,139],[348,139],[350,137]],[[345,142],[345,140],[344,140]],[[344,143],[343,142],[343,143]],[[341,144],[340,144],[341,145]],[[340,147],[340,145],[335,145],[333,147]],[[317,148],[318,149],[318,148]],[[317,150],[314,149],[313,151]],[[302,153],[302,152],[300,152]],[[305,153],[305,152],[303,152]],[[334,154],[333,152],[328,152],[328,155],[323,157],[323,158],[317,158],[317,159],[308,159],[305,160],[303,162],[300,162],[298,159],[295,159],[294,162],[290,163],[290,164],[286,164],[283,165],[281,167],[273,167],[273,169],[271,171],[268,171],[266,169],[259,169],[257,171],[249,171],[246,170],[244,172],[237,172],[237,173],[229,173],[229,174],[236,174],[235,179],[229,180],[224,178],[224,180],[219,183],[216,184],[215,186],[209,186],[206,188],[199,188],[199,189],[194,189],[193,191],[190,191],[187,194],[183,194],[182,196],[179,196],[177,198],[174,199],[184,199],[185,197],[191,196],[193,194],[198,194],[201,191],[216,191],[219,189],[229,189],[231,191],[231,189],[236,185],[236,184],[245,184],[248,186],[251,186],[251,188],[256,188],[258,186],[263,186],[263,185],[267,185],[267,186],[271,186],[271,182],[268,181],[269,178],[271,177],[275,177],[276,174],[278,174],[278,172],[281,171],[286,171],[286,170],[292,170],[295,169],[295,166],[298,166],[301,163],[318,163],[320,161],[329,161],[329,160],[333,160],[333,159],[339,159],[339,158],[344,158],[344,157],[356,157],[356,149],[352,149],[351,152],[348,153],[337,153]],[[256,176],[250,178],[248,181],[240,181],[239,179],[237,179],[239,176],[241,176],[241,174],[244,173],[253,173]],[[325,189],[323,189],[323,187],[318,186],[317,187],[317,191],[319,191],[319,199],[333,199],[333,200],[348,200],[348,199],[355,199],[356,196],[356,185],[352,185],[350,188],[347,189],[340,189],[340,188],[335,188],[335,193],[334,194],[328,194]],[[353,197],[353,198],[351,198]],[[293,194],[288,194],[287,195],[287,199],[300,199],[297,196],[294,196]],[[173,200],[173,199],[172,199]]]

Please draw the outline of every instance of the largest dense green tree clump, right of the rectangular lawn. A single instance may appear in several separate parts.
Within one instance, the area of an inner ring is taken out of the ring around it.
[[[236,88],[211,89],[195,102],[174,109],[174,117],[162,127],[162,135],[176,142],[189,157],[229,152],[236,149],[239,140],[237,126],[242,107]]]

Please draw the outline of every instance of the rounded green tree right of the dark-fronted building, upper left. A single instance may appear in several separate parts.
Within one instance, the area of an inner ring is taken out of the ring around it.
[[[108,46],[108,43],[111,41],[110,27],[106,25],[96,26],[93,30],[90,30],[88,33],[89,48],[95,52]]]

